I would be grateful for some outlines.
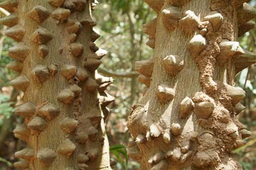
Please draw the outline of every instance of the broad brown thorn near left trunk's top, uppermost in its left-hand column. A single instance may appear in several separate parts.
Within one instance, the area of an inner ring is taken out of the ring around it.
[[[37,21],[37,23],[43,23],[43,21],[45,21],[45,19],[47,19],[49,15],[49,10],[41,5],[33,7],[33,9],[27,14],[27,16]]]

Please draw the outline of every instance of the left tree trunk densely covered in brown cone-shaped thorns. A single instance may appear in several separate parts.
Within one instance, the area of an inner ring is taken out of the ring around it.
[[[103,113],[113,97],[105,93],[112,79],[97,70],[105,50],[93,43],[87,0],[7,0],[11,15],[0,23],[18,43],[9,49],[19,72],[11,85],[24,92],[16,114],[23,125],[13,133],[27,142],[17,151],[20,169],[111,169]],[[103,111],[103,112],[101,112]]]

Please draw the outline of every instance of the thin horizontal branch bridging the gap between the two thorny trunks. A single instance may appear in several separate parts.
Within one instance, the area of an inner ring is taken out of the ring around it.
[[[113,78],[135,78],[139,76],[137,72],[111,72],[105,68],[98,68],[98,72],[103,76],[111,76]]]

